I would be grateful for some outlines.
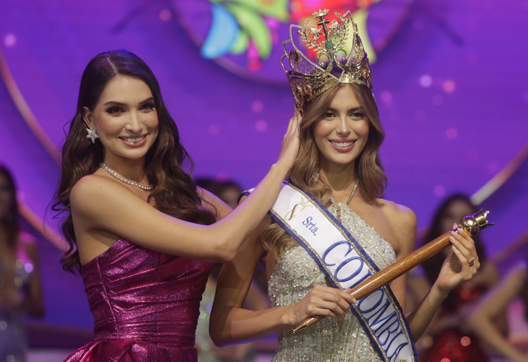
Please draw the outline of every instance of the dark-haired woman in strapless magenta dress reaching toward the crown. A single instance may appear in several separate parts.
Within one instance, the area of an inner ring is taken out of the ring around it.
[[[80,270],[95,341],[68,362],[197,360],[211,261],[232,260],[266,214],[297,155],[297,125],[296,115],[277,163],[227,216],[183,168],[187,153],[148,66],[125,50],[88,63],[53,209],[65,215],[63,267]]]

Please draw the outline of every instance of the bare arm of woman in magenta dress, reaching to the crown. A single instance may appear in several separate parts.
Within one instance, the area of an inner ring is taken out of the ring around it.
[[[271,166],[248,201],[212,225],[178,220],[153,206],[113,179],[83,177],[72,188],[70,205],[81,262],[83,244],[118,235],[147,249],[190,258],[230,261],[249,233],[265,216],[299,148],[300,116],[291,118],[277,163]],[[84,256],[84,258],[83,258]]]

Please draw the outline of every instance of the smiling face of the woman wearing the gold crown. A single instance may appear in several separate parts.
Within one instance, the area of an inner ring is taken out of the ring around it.
[[[312,126],[320,167],[354,167],[369,138],[369,126],[354,90],[339,88],[322,117]]]

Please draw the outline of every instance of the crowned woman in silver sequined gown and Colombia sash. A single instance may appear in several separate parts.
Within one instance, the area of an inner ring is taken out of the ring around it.
[[[452,232],[436,283],[407,315],[405,274],[359,301],[347,293],[414,249],[416,216],[379,198],[386,184],[378,154],[384,133],[368,59],[350,14],[336,14],[332,23],[326,15],[314,13],[319,28],[291,25],[283,43],[283,67],[303,116],[299,154],[269,216],[221,272],[210,334],[224,345],[277,332],[275,362],[416,361],[414,339],[449,290],[476,273],[478,256],[466,232]],[[310,61],[294,44],[293,30],[326,62]],[[345,49],[347,37],[353,44]],[[273,308],[245,310],[259,261]],[[313,316],[333,318],[292,331]]]

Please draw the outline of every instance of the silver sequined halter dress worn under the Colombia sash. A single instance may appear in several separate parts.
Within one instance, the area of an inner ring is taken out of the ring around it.
[[[341,205],[342,223],[380,269],[394,263],[396,254],[374,228],[345,204]],[[336,209],[328,210],[335,216]],[[269,297],[274,307],[297,303],[315,286],[326,285],[325,276],[303,247],[291,247],[282,253],[269,280]],[[347,313],[341,330],[334,318],[297,332],[279,334],[273,362],[378,362],[378,353],[371,346],[354,314]]]

